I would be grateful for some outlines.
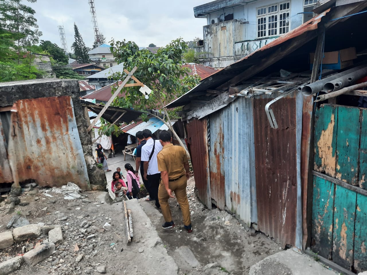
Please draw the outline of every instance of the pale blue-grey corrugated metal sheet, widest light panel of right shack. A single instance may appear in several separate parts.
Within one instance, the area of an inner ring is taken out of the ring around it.
[[[257,223],[252,101],[238,98],[222,111],[226,206],[248,227]]]

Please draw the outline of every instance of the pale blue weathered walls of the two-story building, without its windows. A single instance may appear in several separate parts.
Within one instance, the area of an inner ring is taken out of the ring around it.
[[[204,47],[195,47],[197,52],[209,53],[200,63],[211,67],[225,67],[275,40],[280,36],[279,33],[264,38],[257,37],[257,8],[282,2],[284,1],[257,0],[209,13],[208,25],[203,27]],[[290,1],[290,30],[303,23],[304,16],[299,14],[304,11],[303,4],[304,0]],[[233,20],[219,22],[228,14],[233,14]],[[226,30],[222,30],[222,27],[226,27]]]

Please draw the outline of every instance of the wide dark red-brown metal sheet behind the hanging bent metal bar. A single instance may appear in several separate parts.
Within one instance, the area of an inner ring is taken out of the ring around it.
[[[272,110],[278,128],[264,111],[271,99],[254,100],[256,197],[259,230],[283,247],[295,245],[297,220],[296,100],[286,97]]]

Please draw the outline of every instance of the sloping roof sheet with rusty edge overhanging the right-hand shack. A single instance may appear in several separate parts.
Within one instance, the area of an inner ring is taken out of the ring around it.
[[[320,15],[317,15],[316,17],[312,18],[310,21],[302,24],[301,26],[291,30],[287,34],[284,34],[283,36],[275,39],[274,41],[270,42],[269,44],[266,44],[265,46],[257,49],[256,51],[252,52],[251,54],[245,56],[244,58],[240,59],[239,61],[221,69],[212,74],[211,76],[208,76],[200,81],[196,87],[192,88],[190,91],[188,91],[186,94],[182,95],[180,98],[174,100],[170,104],[168,104],[166,107],[172,108],[172,107],[178,107],[188,104],[192,98],[189,97],[190,94],[193,92],[199,92],[199,91],[206,91],[207,89],[215,89],[219,87],[220,85],[226,83],[226,81],[232,79],[233,77],[237,76],[238,74],[244,72],[246,69],[250,68],[254,65],[253,62],[255,60],[260,60],[261,58],[265,58],[267,55],[269,55],[269,50],[276,51],[277,48],[280,48],[284,42],[290,41],[293,39],[297,39],[298,36],[304,33],[310,33],[317,29],[317,25],[321,22],[321,18],[323,18],[329,10],[324,11]],[[315,34],[316,35],[316,34]],[[311,40],[314,36],[308,35],[309,40]],[[304,45],[304,40],[299,40],[298,48]],[[289,51],[292,52],[297,47],[287,48],[284,47],[283,51]],[[275,63],[277,60],[273,60],[273,63]],[[265,62],[258,62],[258,69],[265,69],[269,66],[269,63]],[[252,77],[252,75],[248,75],[247,78]],[[247,79],[246,76],[241,78],[241,81]]]

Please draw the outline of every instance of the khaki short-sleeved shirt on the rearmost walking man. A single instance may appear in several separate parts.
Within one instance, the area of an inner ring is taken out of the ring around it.
[[[168,179],[176,179],[185,175],[183,164],[187,161],[186,151],[181,146],[172,143],[163,146],[157,155],[158,170],[167,171]]]

